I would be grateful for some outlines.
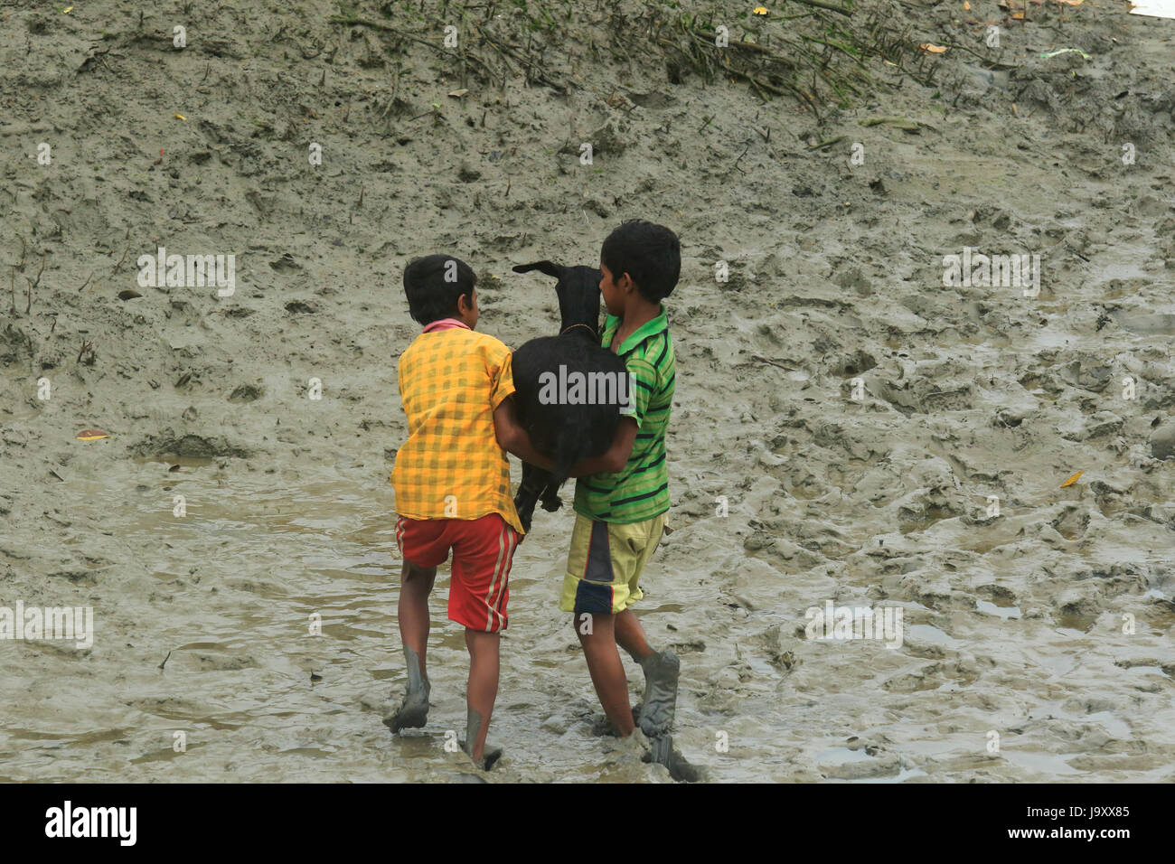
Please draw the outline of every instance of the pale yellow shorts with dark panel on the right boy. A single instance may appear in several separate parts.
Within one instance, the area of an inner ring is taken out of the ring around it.
[[[637,580],[660,543],[665,514],[644,522],[600,522],[576,514],[559,609],[623,612],[644,595]]]

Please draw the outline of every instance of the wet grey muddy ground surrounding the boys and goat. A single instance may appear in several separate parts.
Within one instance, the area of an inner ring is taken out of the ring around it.
[[[595,263],[631,217],[683,243],[674,530],[643,585],[691,762],[1175,779],[1175,21],[893,4],[915,53],[949,46],[935,75],[871,60],[875,91],[817,119],[582,40],[551,51],[565,93],[490,85],[329,20],[394,6],[184,6],[0,2],[0,605],[96,630],[0,639],[2,779],[669,782],[597,734],[556,608],[569,510],[515,558],[499,768],[443,746],[466,670],[444,580],[430,725],[381,723],[402,267],[469,261],[479,329],[518,346],[557,307],[510,267]],[[141,286],[159,246],[234,254],[235,294]],[[1039,255],[1039,294],[944,284],[965,247]],[[901,645],[806,638],[827,601],[901,607]]]

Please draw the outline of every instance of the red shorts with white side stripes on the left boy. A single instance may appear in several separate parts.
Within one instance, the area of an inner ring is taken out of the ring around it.
[[[396,521],[400,554],[418,567],[438,567],[452,549],[449,618],[471,630],[506,629],[510,562],[521,535],[498,514],[476,520]]]

